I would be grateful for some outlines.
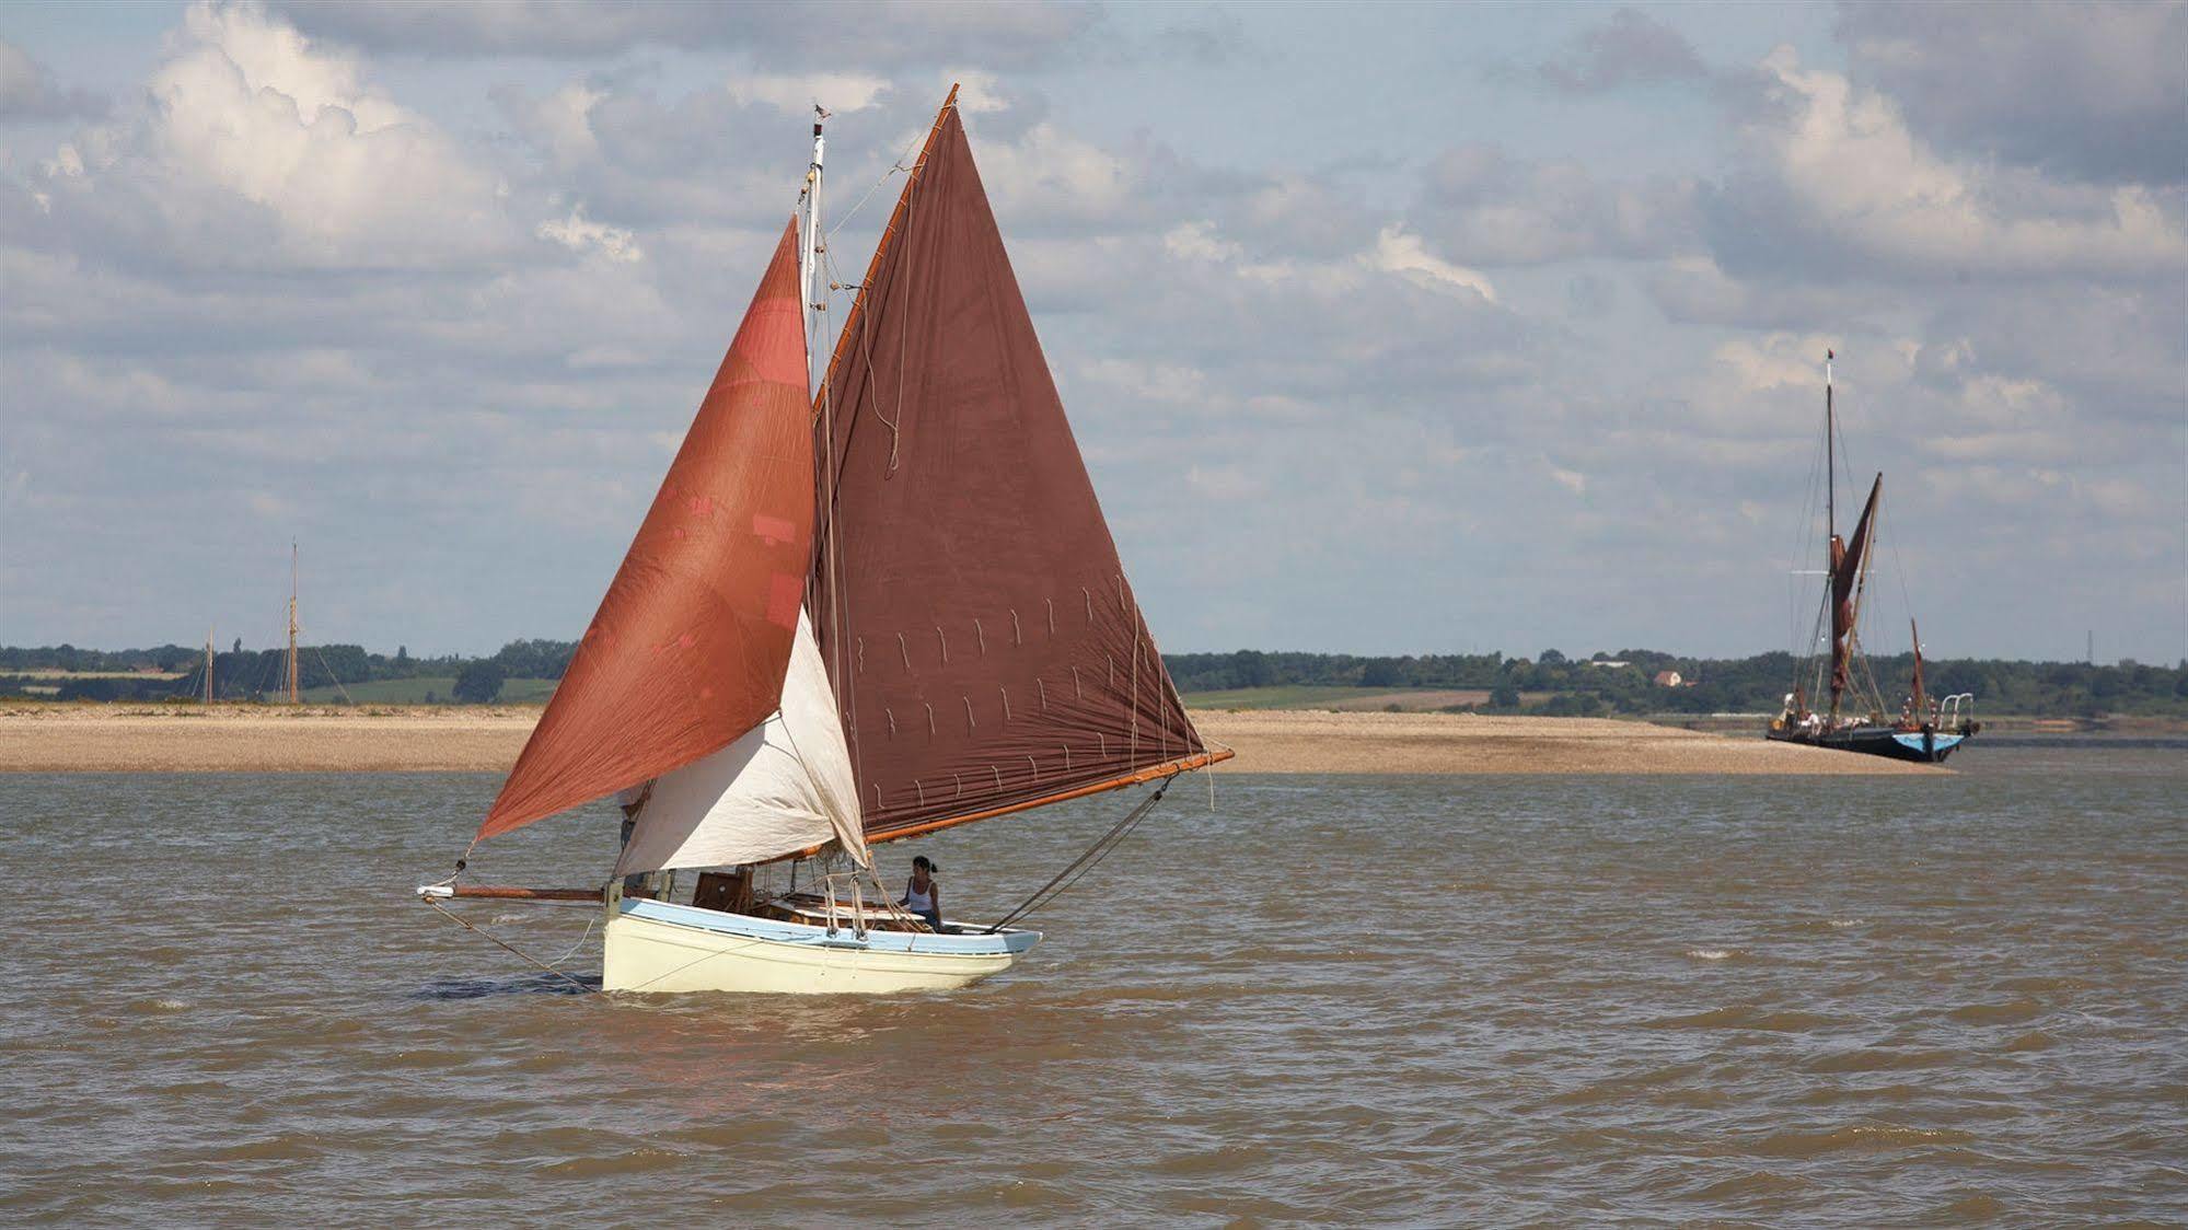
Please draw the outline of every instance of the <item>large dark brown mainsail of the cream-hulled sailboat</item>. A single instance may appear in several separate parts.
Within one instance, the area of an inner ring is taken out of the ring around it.
[[[869,840],[1230,755],[1140,617],[952,103],[818,425],[812,611]]]

